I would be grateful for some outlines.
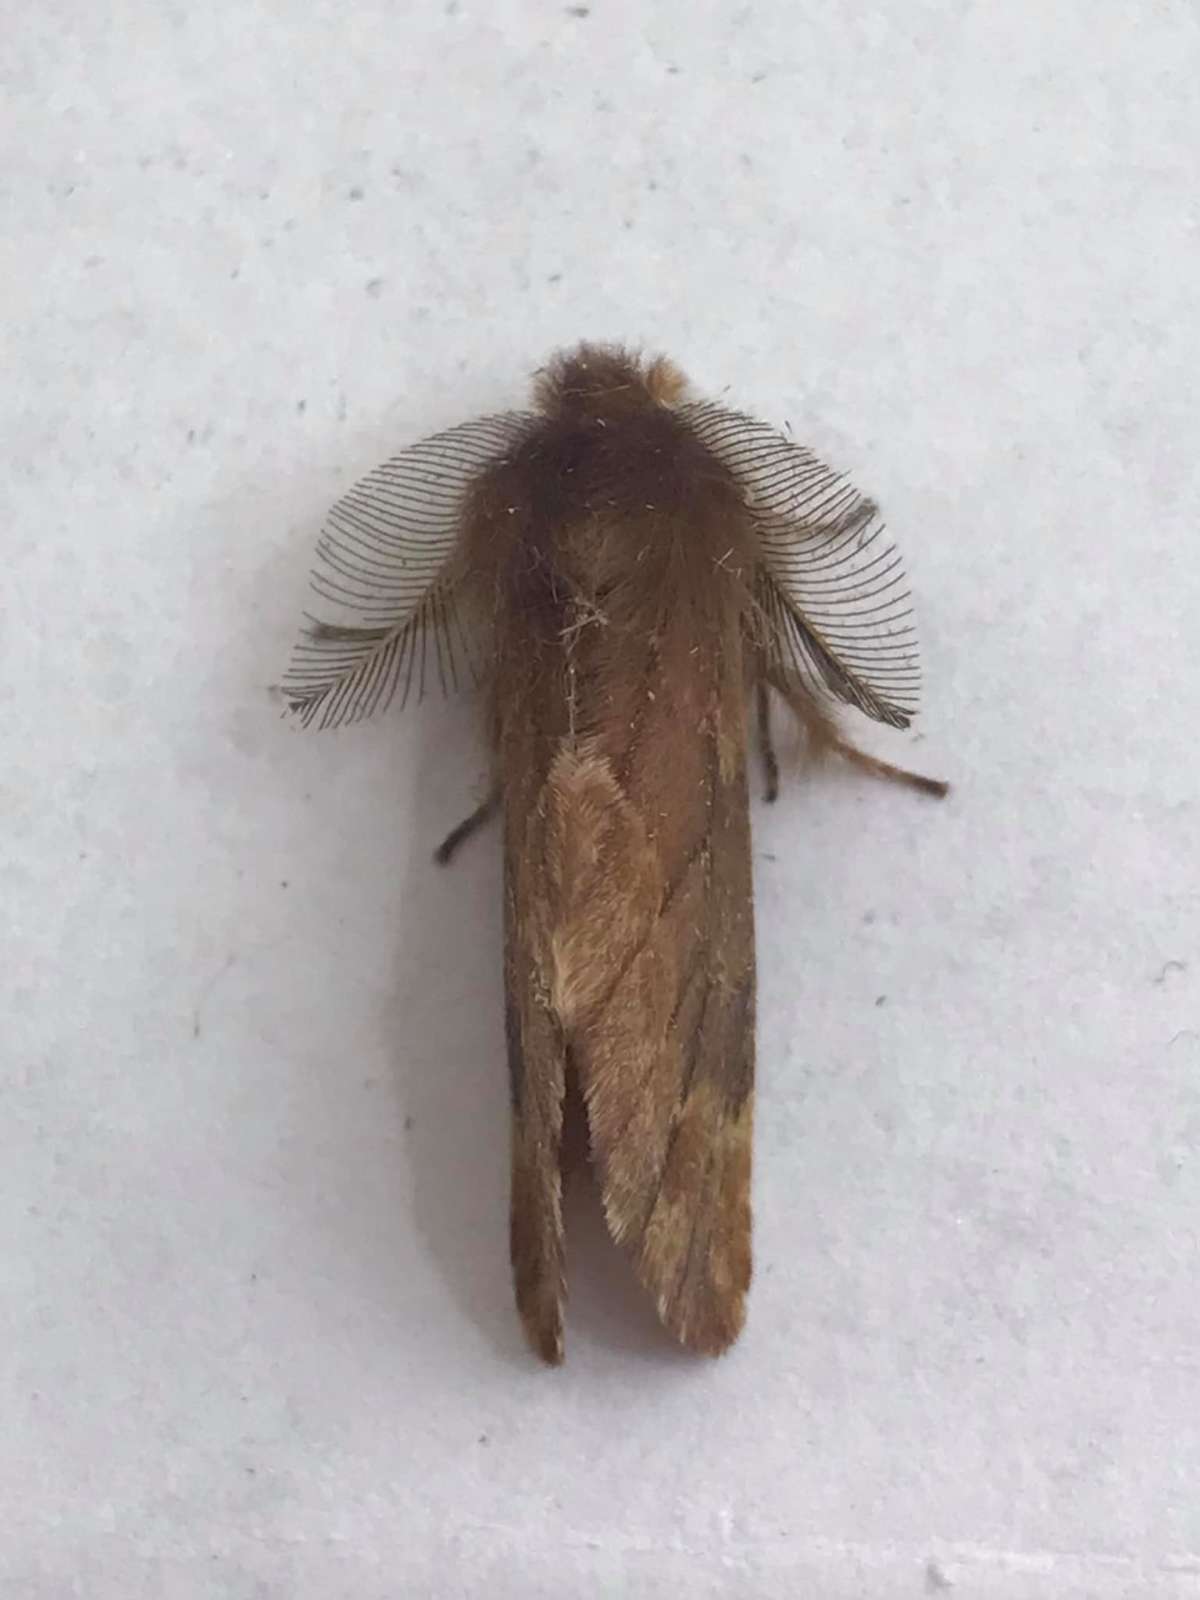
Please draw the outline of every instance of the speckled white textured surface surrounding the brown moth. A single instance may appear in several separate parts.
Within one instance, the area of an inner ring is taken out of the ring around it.
[[[1197,1594],[1195,5],[584,11],[0,5],[0,1590]],[[520,1344],[470,707],[267,693],[582,334],[880,498],[957,782],[755,814],[718,1365],[586,1210]]]

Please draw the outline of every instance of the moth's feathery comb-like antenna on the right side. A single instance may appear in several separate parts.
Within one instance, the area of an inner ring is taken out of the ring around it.
[[[874,501],[755,418],[709,402],[680,416],[733,474],[757,530],[765,675],[907,728],[920,698],[917,632]]]

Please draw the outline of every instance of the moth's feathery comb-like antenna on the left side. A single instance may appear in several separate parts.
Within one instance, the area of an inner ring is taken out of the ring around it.
[[[325,520],[312,571],[315,610],[282,688],[304,726],[360,722],[437,675],[478,672],[477,621],[454,562],[478,475],[530,432],[530,413],[482,416],[434,434],[360,478]],[[430,648],[432,645],[432,648]]]

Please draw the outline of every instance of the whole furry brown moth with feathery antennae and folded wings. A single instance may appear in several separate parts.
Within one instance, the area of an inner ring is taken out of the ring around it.
[[[283,680],[304,725],[474,678],[504,832],[510,1245],[534,1350],[563,1355],[565,1125],[613,1238],[688,1349],[750,1283],[754,914],[747,742],[771,699],[810,755],[928,794],[835,704],[906,728],[918,667],[875,506],[664,358],[582,344],[534,410],[437,434],[333,509]]]

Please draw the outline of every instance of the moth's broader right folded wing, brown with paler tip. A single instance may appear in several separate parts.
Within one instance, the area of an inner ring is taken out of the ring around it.
[[[754,906],[741,646],[688,645],[658,640],[622,750],[550,771],[549,978],[610,1232],[715,1355],[750,1282]]]

